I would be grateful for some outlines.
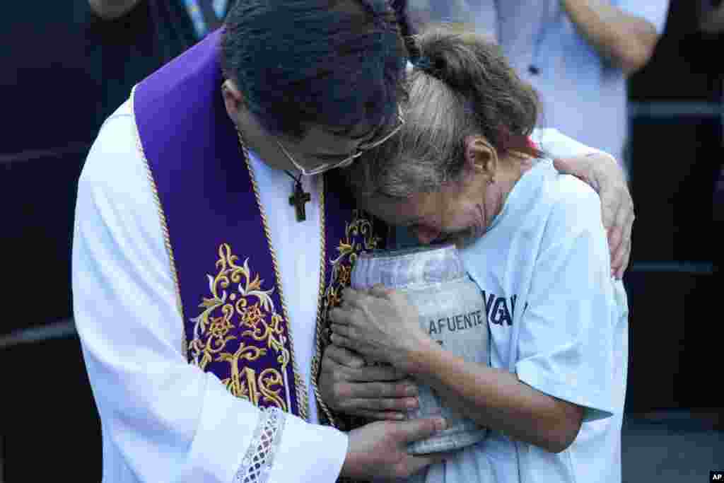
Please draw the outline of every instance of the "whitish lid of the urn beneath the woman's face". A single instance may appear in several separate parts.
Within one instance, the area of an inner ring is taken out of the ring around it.
[[[381,283],[390,288],[450,282],[466,277],[455,245],[434,245],[360,253],[352,272],[352,287]]]

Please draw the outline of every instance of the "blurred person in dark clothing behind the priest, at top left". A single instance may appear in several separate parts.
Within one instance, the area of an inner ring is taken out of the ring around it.
[[[131,88],[218,28],[234,0],[88,0],[104,97],[98,126]]]

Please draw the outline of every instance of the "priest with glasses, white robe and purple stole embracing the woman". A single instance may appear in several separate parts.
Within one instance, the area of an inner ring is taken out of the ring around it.
[[[445,421],[341,432],[318,416],[327,312],[356,253],[389,241],[333,168],[404,122],[401,3],[239,0],[101,127],[73,291],[104,482],[333,482],[439,460],[405,445]],[[574,169],[620,187],[613,166]],[[628,193],[610,199],[626,232]],[[370,370],[395,404],[414,398],[401,374]]]

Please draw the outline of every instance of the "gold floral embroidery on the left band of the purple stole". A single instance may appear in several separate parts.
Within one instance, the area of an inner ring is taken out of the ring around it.
[[[251,272],[248,259],[238,265],[230,245],[219,246],[218,255],[216,274],[208,275],[210,296],[199,304],[201,314],[190,319],[190,362],[204,371],[209,370],[209,364],[228,364],[221,373],[229,377],[222,382],[233,395],[256,406],[287,411],[284,375],[290,351],[285,319],[271,299],[274,288],[264,290],[264,280]],[[269,351],[276,355],[278,368],[266,367],[257,374],[250,363]]]

